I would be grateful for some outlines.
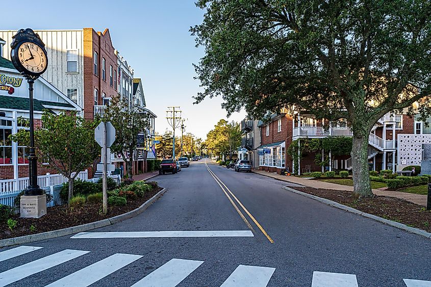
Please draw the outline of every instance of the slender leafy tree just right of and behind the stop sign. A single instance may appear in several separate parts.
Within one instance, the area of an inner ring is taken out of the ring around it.
[[[111,146],[111,152],[121,154],[127,167],[129,178],[133,178],[133,159],[137,147],[139,133],[144,134],[146,140],[149,120],[143,111],[129,108],[128,102],[120,97],[114,97],[105,113],[105,120],[110,121],[115,127],[115,142]]]

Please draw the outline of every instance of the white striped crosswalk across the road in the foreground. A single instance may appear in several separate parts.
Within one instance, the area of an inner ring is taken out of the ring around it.
[[[12,248],[9,250],[0,252],[0,262],[11,258],[15,258],[29,252],[33,252],[35,257],[38,256],[37,250],[42,247],[35,246],[20,246]],[[62,265],[64,268],[64,273],[68,274],[68,264],[71,264],[73,259],[89,253],[90,251],[82,250],[71,250],[66,249],[54,254],[47,255],[45,257],[36,259],[32,262],[23,264],[18,267],[11,268],[0,273],[0,287],[6,286],[8,284],[22,280],[28,276],[34,275],[36,273],[42,272],[49,268]],[[81,269],[73,272],[65,277],[52,282],[50,275],[47,275],[46,283],[49,287],[58,286],[73,286],[73,287],[84,287],[89,286],[97,281],[109,278],[111,274],[122,268],[137,262],[141,259],[142,255],[136,254],[124,254],[116,253],[101,259],[93,264],[84,264]],[[26,257],[28,258],[28,256]],[[89,257],[86,257],[87,259]],[[81,260],[85,260],[84,257]],[[91,259],[90,259],[91,260]],[[135,274],[143,274],[141,279],[136,279],[137,281],[131,282],[132,287],[175,287],[184,280],[189,280],[188,284],[193,284],[191,281],[193,277],[189,277],[192,273],[198,276],[202,276],[202,272],[205,269],[200,269],[199,267],[204,264],[204,261],[200,260],[190,260],[190,259],[179,259],[172,258],[168,262],[159,266],[153,272],[146,274],[145,270],[139,270],[139,267],[134,267]],[[14,261],[15,264],[15,261]],[[79,266],[81,266],[80,263]],[[77,265],[72,265],[77,266]],[[137,266],[142,266],[137,264]],[[200,269],[200,270],[198,270]],[[220,270],[221,272],[222,270]],[[270,282],[275,268],[263,267],[263,266],[250,266],[250,265],[239,265],[227,278],[220,287],[265,287]],[[196,276],[195,275],[195,276]],[[27,279],[29,280],[29,279]],[[122,278],[124,280],[124,278]],[[283,279],[282,279],[283,280]],[[401,279],[400,279],[401,280]],[[407,287],[431,287],[431,281],[417,280],[417,279],[402,279]],[[110,281],[111,282],[111,281]],[[185,282],[184,282],[185,283]],[[184,284],[183,283],[183,284]],[[19,282],[18,282],[19,284]],[[115,281],[112,281],[115,284]],[[397,285],[399,282],[397,283]],[[313,272],[311,287],[358,287],[357,277],[354,274],[343,274],[343,273],[331,273],[315,271]],[[361,286],[365,287],[365,286]]]

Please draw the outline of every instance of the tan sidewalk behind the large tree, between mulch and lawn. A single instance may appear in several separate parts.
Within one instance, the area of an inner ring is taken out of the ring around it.
[[[269,176],[286,182],[292,182],[294,184],[298,184],[306,187],[332,189],[332,190],[346,190],[346,191],[353,192],[353,187],[351,186],[337,185],[331,182],[312,180],[312,179],[307,179],[303,177],[283,176],[280,174],[276,174],[274,172],[268,172],[263,170],[252,170],[252,171],[261,175]],[[373,189],[372,191],[375,195],[397,197],[422,206],[426,206],[426,195],[413,194],[413,193],[400,192],[400,191],[379,190],[379,189]]]

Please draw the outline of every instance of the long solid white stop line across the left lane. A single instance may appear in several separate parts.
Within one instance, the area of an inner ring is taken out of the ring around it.
[[[253,237],[250,230],[80,232],[71,238]]]

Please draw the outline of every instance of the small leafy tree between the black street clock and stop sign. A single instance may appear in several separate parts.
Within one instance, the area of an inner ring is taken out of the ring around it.
[[[43,128],[36,129],[35,148],[38,161],[67,177],[69,182],[68,199],[73,196],[73,180],[78,173],[93,163],[100,147],[94,141],[94,129],[98,120],[88,121],[77,116],[76,112],[55,115],[44,111]],[[9,136],[13,141],[30,144],[30,132],[20,129]]]

